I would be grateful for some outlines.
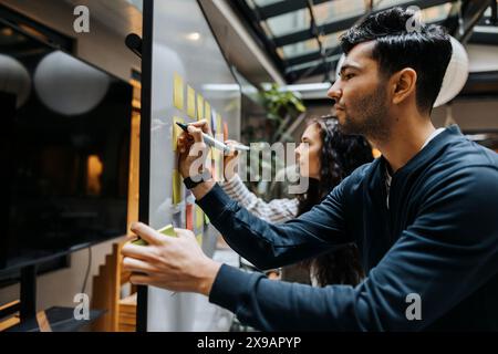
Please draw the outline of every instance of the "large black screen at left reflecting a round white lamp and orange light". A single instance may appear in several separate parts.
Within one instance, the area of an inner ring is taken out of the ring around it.
[[[0,72],[0,273],[125,235],[132,86],[4,25]]]

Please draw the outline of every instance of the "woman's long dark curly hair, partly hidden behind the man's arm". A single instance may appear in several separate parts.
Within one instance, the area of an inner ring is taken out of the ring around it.
[[[339,122],[333,116],[314,118],[320,129],[322,149],[320,152],[320,180],[310,178],[310,186],[305,194],[298,196],[298,215],[309,211],[321,202],[345,177],[357,167],[373,160],[372,147],[360,135],[344,135]],[[363,278],[364,271],[360,262],[355,244],[347,244],[338,250],[302,262],[313,275],[320,287],[328,284],[356,285]]]

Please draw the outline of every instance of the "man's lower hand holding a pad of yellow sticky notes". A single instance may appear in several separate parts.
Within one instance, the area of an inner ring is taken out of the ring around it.
[[[132,231],[148,242],[123,247],[123,268],[132,272],[133,284],[209,295],[221,264],[204,254],[191,231],[175,229],[174,238],[141,222]]]

